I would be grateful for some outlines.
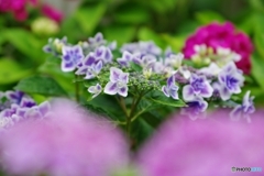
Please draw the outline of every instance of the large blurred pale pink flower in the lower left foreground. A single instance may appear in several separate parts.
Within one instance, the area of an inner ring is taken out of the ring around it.
[[[4,170],[28,176],[108,176],[128,163],[129,153],[114,127],[68,101],[55,102],[46,119],[1,133],[0,148]]]

